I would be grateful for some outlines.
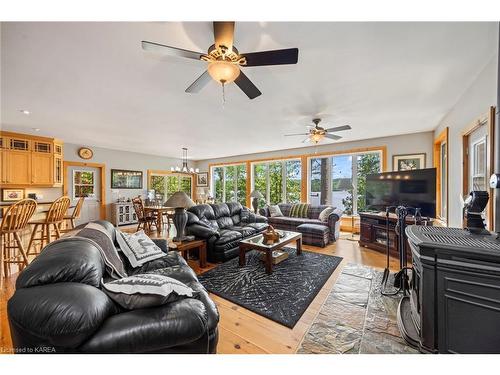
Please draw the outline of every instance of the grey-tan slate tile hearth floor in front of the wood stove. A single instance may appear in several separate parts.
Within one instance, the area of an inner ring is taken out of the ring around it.
[[[396,311],[401,294],[380,293],[381,271],[347,264],[298,353],[395,354],[418,353],[399,333]],[[388,285],[392,285],[391,274]]]

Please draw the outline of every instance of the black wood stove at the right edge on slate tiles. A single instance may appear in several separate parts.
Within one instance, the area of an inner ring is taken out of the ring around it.
[[[410,295],[398,325],[422,352],[500,353],[500,240],[496,234],[412,225]]]

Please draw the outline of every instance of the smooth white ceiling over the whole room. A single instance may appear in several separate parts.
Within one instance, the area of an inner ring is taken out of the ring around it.
[[[302,147],[314,116],[343,140],[432,130],[496,54],[495,23],[236,23],[240,52],[298,47],[291,66],[252,67],[262,91],[184,90],[205,69],[141,49],[206,51],[210,22],[3,23],[4,129],[65,142],[207,159]],[[19,112],[27,109],[31,115]],[[329,141],[331,142],[331,141]]]

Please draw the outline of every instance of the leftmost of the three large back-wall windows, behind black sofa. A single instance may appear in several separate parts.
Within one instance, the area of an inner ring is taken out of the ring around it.
[[[215,202],[246,205],[247,168],[245,164],[212,167],[211,186]]]

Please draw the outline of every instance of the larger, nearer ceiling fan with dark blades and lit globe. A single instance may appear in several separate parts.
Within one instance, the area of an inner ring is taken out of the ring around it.
[[[234,81],[250,99],[262,93],[241,71],[241,67],[296,64],[298,61],[298,48],[240,54],[233,45],[234,22],[214,22],[213,28],[215,43],[208,48],[207,53],[188,51],[144,40],[142,49],[207,62],[207,70],[186,89],[188,93],[198,93],[212,78],[222,85],[223,95],[224,86]]]

